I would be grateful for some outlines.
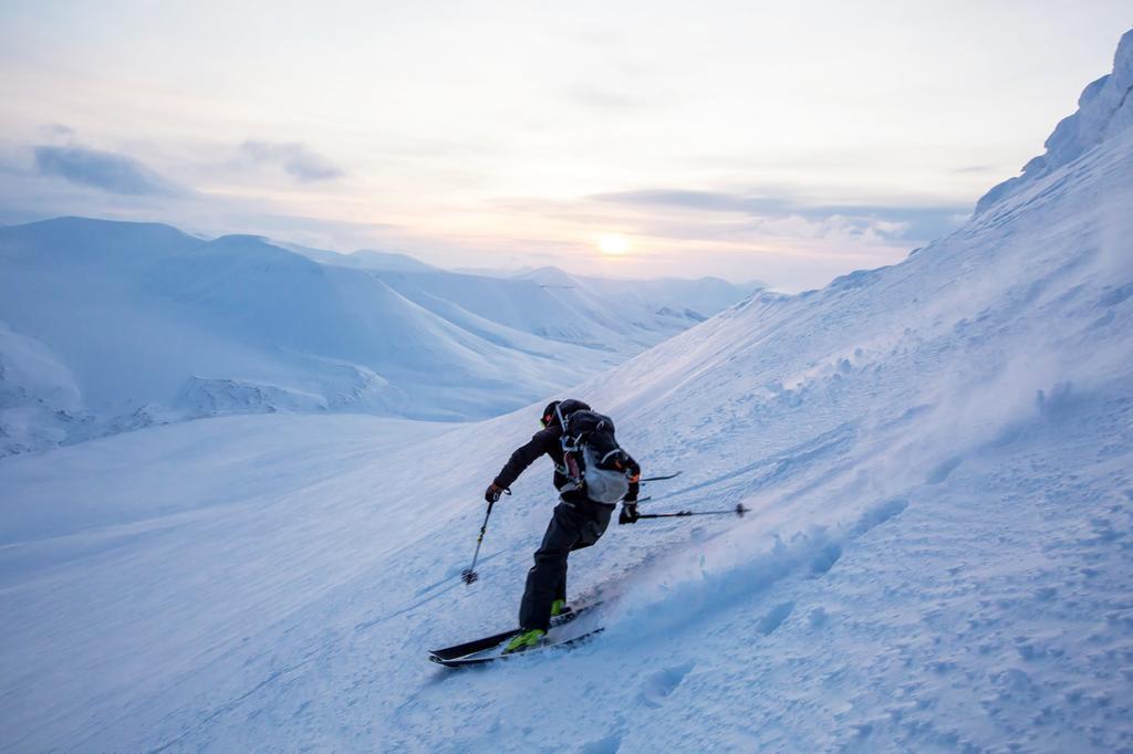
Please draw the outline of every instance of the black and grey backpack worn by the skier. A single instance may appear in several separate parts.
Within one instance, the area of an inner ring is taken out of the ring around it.
[[[563,465],[570,483],[595,503],[612,505],[630,490],[629,454],[617,445],[614,421],[595,411],[574,411],[562,425]]]

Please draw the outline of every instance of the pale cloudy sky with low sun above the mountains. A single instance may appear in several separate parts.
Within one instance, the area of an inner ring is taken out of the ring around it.
[[[959,226],[1131,24],[1133,0],[0,0],[0,222],[816,288]]]

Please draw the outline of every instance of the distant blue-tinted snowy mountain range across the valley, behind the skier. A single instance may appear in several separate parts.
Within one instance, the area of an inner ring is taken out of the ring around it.
[[[401,255],[82,219],[0,230],[0,454],[228,413],[484,418],[695,323]]]

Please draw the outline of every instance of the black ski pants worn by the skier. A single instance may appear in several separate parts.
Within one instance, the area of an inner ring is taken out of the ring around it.
[[[548,628],[551,603],[566,599],[566,557],[602,538],[614,507],[589,500],[563,500],[555,506],[543,543],[535,551],[535,565],[527,572],[527,589],[519,606],[522,628]]]

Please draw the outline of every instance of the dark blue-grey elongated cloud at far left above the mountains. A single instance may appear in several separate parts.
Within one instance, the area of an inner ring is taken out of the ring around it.
[[[37,146],[35,169],[83,186],[126,196],[176,196],[182,190],[137,160],[83,146]]]

